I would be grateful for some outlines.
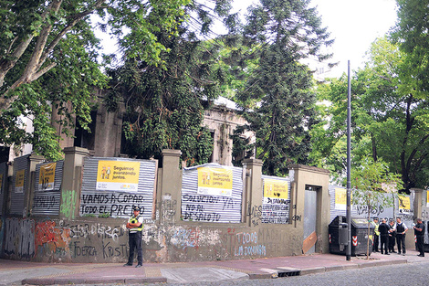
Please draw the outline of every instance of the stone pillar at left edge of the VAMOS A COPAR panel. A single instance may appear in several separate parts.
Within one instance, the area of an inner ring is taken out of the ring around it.
[[[63,180],[61,184],[60,218],[73,219],[78,216],[80,181],[83,159],[89,150],[80,147],[64,148]]]

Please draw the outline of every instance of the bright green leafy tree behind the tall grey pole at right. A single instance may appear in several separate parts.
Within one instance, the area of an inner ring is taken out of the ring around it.
[[[424,186],[427,174],[428,105],[418,91],[408,55],[386,37],[377,39],[369,52],[365,69],[351,80],[351,122],[353,164],[370,155],[382,159],[392,172],[402,175],[406,192]],[[313,158],[319,166],[330,165],[339,175],[345,164],[335,164],[336,146],[344,148],[347,116],[347,78],[332,79],[319,89],[325,121],[313,130]]]

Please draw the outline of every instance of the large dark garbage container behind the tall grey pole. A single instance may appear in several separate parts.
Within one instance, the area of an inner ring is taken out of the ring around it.
[[[351,256],[366,255],[368,225],[370,226],[370,255],[374,226],[365,217],[351,217]],[[346,255],[348,247],[347,219],[337,216],[330,222],[330,253]]]

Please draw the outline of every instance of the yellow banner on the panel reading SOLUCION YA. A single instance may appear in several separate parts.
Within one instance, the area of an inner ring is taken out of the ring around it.
[[[232,196],[233,170],[225,168],[199,167],[198,169],[199,195]]]

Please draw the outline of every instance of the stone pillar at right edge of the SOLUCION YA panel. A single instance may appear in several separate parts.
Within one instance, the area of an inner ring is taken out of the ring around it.
[[[262,207],[262,160],[259,159],[245,159],[243,164],[246,168],[246,196],[245,202],[248,203],[250,212],[255,211],[256,208]],[[244,204],[246,205],[246,204]],[[251,213],[247,214],[250,216]],[[251,227],[252,222],[248,219],[248,226]]]

